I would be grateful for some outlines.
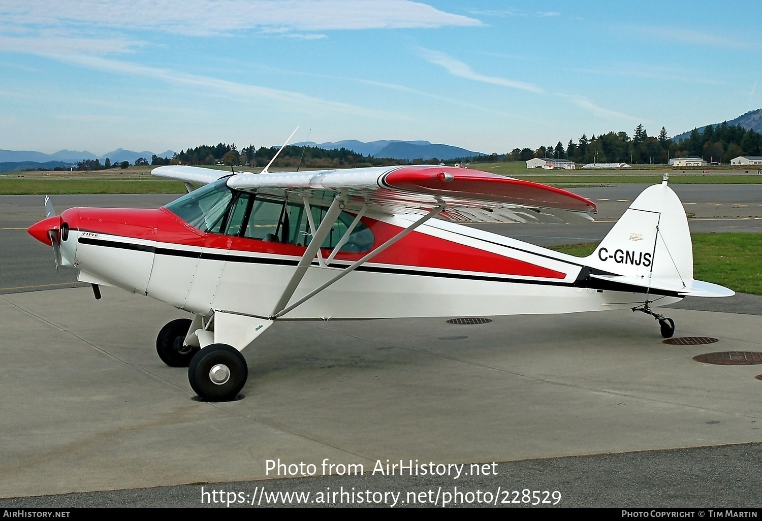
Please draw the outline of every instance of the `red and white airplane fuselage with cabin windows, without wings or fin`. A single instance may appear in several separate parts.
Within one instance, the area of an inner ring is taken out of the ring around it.
[[[324,209],[305,212],[298,203],[235,190],[214,204],[203,203],[200,193],[194,203],[194,193],[160,209],[67,209],[60,216],[67,229],[61,236],[62,264],[80,270],[85,282],[117,286],[198,315],[271,317]],[[419,216],[367,213],[352,231],[354,217],[337,219],[335,233],[326,238],[291,302]],[[351,234],[341,244],[347,228]],[[586,269],[578,257],[431,219],[282,318],[565,313],[630,308],[642,301],[642,292],[589,283]],[[664,296],[654,305],[677,300]]]

